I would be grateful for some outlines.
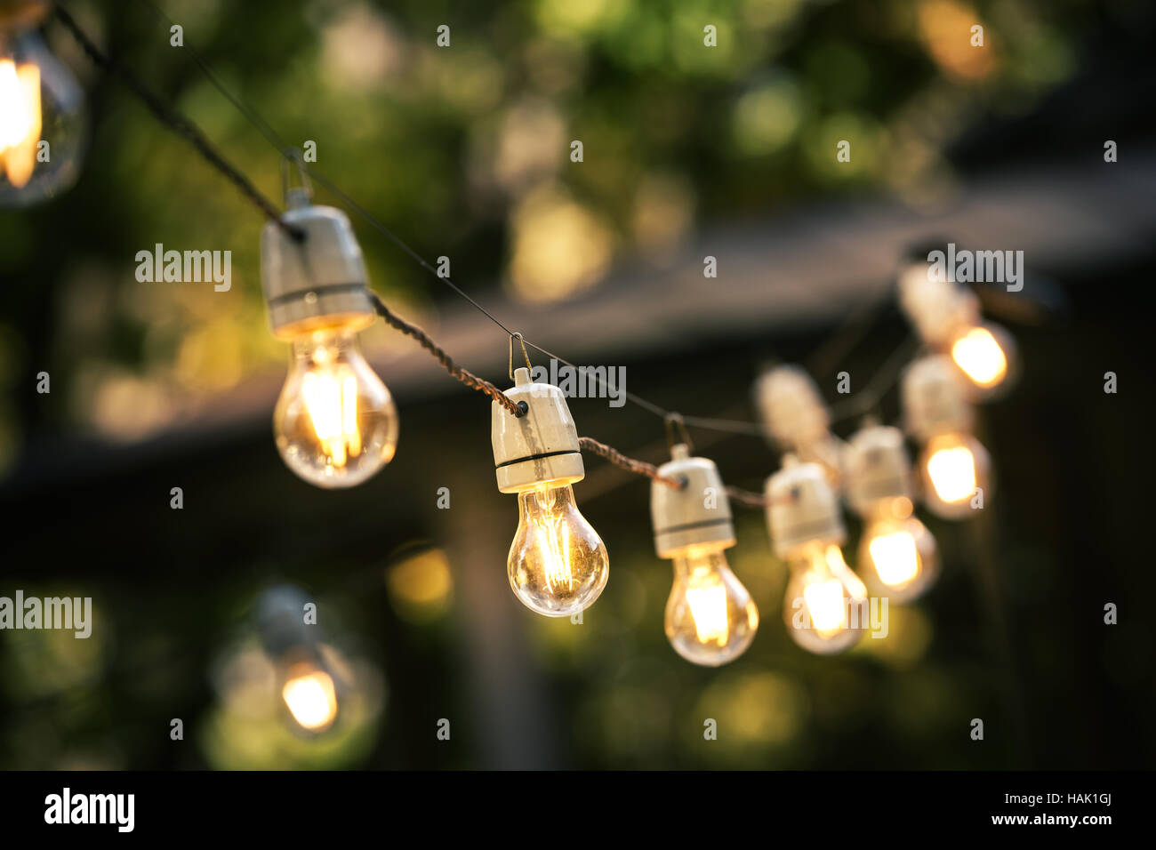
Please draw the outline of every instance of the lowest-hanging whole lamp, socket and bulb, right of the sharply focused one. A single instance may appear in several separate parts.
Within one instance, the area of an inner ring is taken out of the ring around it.
[[[758,630],[758,608],[724,554],[735,537],[718,467],[690,457],[686,443],[674,445],[670,456],[658,474],[681,487],[651,483],[654,548],[674,566],[666,637],[688,661],[717,667],[747,651]]]

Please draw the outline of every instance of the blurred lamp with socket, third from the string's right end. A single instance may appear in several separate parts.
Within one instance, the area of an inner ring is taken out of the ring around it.
[[[866,526],[859,544],[865,581],[896,603],[918,599],[935,583],[935,538],[913,516],[911,464],[898,428],[868,424],[844,452],[847,502]]]

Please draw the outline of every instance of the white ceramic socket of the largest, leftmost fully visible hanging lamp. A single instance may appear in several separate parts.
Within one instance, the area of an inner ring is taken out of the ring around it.
[[[273,222],[261,231],[261,283],[273,335],[368,326],[375,318],[369,275],[349,219],[333,207],[294,201],[282,219],[304,234],[303,241]]]

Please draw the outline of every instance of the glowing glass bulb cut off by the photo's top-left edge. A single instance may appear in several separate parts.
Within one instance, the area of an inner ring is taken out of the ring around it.
[[[72,186],[87,132],[80,86],[39,35],[6,40],[0,32],[0,208]]]

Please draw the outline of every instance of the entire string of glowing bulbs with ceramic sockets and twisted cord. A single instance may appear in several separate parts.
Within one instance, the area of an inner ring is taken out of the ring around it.
[[[323,487],[353,486],[393,457],[397,409],[356,341],[356,333],[376,315],[416,339],[453,377],[492,399],[498,489],[517,493],[519,498],[518,532],[507,560],[510,583],[518,598],[538,613],[572,615],[593,604],[606,586],[606,547],[573,498],[572,485],[584,476],[583,449],[654,481],[655,546],[675,569],[666,630],[674,649],[694,663],[716,666],[733,660],[749,646],[758,626],[757,608],[724,555],[734,544],[726,494],[740,504],[766,509],[775,552],[791,567],[784,619],[792,638],[803,649],[820,653],[845,650],[867,626],[867,586],[847,567],[840,548],[846,534],[836,489],[844,483],[849,501],[868,520],[860,555],[870,567],[873,584],[904,600],[924,592],[934,579],[934,540],[912,516],[909,466],[897,429],[866,428],[851,446],[844,445],[830,431],[830,413],[814,380],[798,367],[779,367],[756,384],[762,427],[686,419],[729,434],[763,434],[787,450],[783,468],[768,479],[763,496],[724,488],[713,463],[691,458],[687,443],[673,446],[672,460],[655,468],[598,441],[579,438],[558,387],[534,383],[529,369],[518,369],[511,375],[514,386],[503,393],[454,364],[428,334],[395,316],[369,291],[361,249],[343,213],[311,206],[304,189],[287,193],[289,209],[280,213],[192,121],[105,57],[64,9],[57,7],[55,13],[95,62],[124,77],[157,118],[185,136],[269,220],[262,234],[265,295],[274,334],[290,341],[294,349],[274,416],[275,431],[286,463],[305,480]],[[297,163],[306,183],[299,157],[279,142],[264,119],[230,95],[202,60],[199,64],[279,153]],[[22,72],[15,60],[12,71],[15,83],[10,74],[0,79],[0,135],[15,140],[18,147],[35,124],[35,118],[29,118],[34,114],[28,94],[31,72]],[[0,66],[0,76],[3,74],[7,66]],[[17,90],[23,93],[20,97],[14,94]],[[9,145],[5,150],[16,147]],[[13,156],[18,177],[27,163],[20,154]],[[12,161],[5,160],[3,167],[13,182]],[[422,267],[436,273],[340,189],[321,182]],[[438,280],[510,334],[512,352],[520,334],[509,331],[447,279],[438,275]],[[938,352],[907,370],[902,392],[907,430],[925,445],[920,459],[924,500],[940,516],[963,516],[976,494],[988,486],[986,451],[970,434],[969,399],[990,397],[1010,384],[1016,371],[1014,342],[1003,328],[980,320],[972,293],[928,278],[925,268],[907,268],[901,276],[899,297],[924,343]],[[556,357],[527,341],[523,341],[524,354],[527,345]],[[857,400],[858,413],[879,402],[887,389],[881,379],[892,365],[898,371],[909,356],[905,349],[897,348],[869,382],[869,391],[861,393],[867,401]],[[888,386],[891,382],[894,377]],[[668,420],[677,416],[637,396],[627,398]],[[714,491],[714,507],[707,507],[709,500],[698,500],[696,490]],[[714,512],[705,515],[706,510]],[[682,522],[687,517],[698,519]],[[299,638],[271,644],[281,671],[281,699],[298,726],[324,730],[338,717],[342,680],[318,646]]]

